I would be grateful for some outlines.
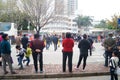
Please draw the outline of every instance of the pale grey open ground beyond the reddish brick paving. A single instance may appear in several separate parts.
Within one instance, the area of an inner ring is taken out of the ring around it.
[[[79,58],[79,49],[77,47],[78,45],[75,44],[74,46],[74,52],[73,52],[73,64],[77,64],[78,58]],[[101,46],[101,43],[94,43],[95,51],[93,51],[92,56],[88,57],[87,62],[104,62],[104,48]],[[46,50],[44,48],[43,51],[43,62],[44,64],[62,64],[62,46],[58,47],[57,51],[54,51],[53,45],[50,46],[49,50]],[[12,46],[12,58],[14,61],[14,66],[18,64],[17,57],[16,57],[16,49],[15,46]],[[31,56],[31,62],[30,64],[33,64],[33,59]]]

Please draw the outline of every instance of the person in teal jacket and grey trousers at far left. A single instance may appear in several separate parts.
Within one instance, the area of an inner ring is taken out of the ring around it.
[[[4,74],[7,74],[8,71],[6,70],[6,63],[8,63],[9,69],[11,74],[16,74],[16,72],[13,71],[12,62],[11,62],[11,47],[9,43],[9,37],[8,34],[2,35],[2,42],[0,44],[0,50],[1,50],[1,57],[3,62],[3,71]]]

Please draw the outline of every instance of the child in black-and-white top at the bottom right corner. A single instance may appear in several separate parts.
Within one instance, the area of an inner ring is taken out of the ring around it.
[[[109,62],[111,80],[118,80],[118,75],[115,73],[119,62],[118,54],[119,54],[118,50],[114,50]]]

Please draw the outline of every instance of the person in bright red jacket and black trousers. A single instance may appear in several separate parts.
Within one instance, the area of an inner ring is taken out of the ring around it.
[[[74,40],[71,38],[70,33],[66,33],[66,38],[62,41],[63,47],[63,72],[66,72],[66,60],[68,58],[68,69],[69,72],[72,72],[72,57],[73,57],[73,47],[74,47]]]

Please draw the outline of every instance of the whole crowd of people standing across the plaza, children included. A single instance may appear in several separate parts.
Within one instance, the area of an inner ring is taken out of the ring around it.
[[[2,36],[1,36],[2,35]],[[11,48],[10,43],[8,41],[8,34],[0,34],[0,53],[2,57],[3,62],[3,70],[4,73],[7,74],[6,71],[6,62],[8,63],[11,73],[15,73],[12,69],[12,62],[11,61]],[[23,63],[26,62],[26,65],[29,66],[30,63],[30,55],[33,56],[33,64],[35,72],[38,72],[38,61],[39,61],[39,67],[40,72],[43,72],[43,49],[46,47],[46,50],[49,50],[50,45],[54,44],[54,51],[57,50],[58,45],[62,44],[62,53],[63,53],[63,60],[62,60],[62,70],[63,72],[66,72],[66,62],[68,58],[68,69],[69,72],[72,72],[72,57],[73,57],[73,47],[75,44],[75,41],[78,42],[78,48],[80,49],[80,55],[79,60],[77,63],[77,66],[75,69],[79,69],[79,66],[81,64],[81,61],[83,60],[83,71],[86,67],[86,60],[88,57],[88,54],[92,55],[92,48],[94,40],[92,37],[84,34],[83,36],[74,36],[71,33],[66,33],[65,36],[58,36],[58,35],[45,35],[42,38],[40,35],[35,34],[34,38],[29,39],[26,34],[24,34],[22,37],[18,34],[15,38],[16,42],[16,52],[18,57],[18,65],[20,66],[20,69],[23,69]],[[103,40],[102,40],[103,41]],[[21,46],[22,45],[22,46]],[[7,46],[7,47],[6,47]],[[111,65],[111,60],[113,61],[113,57],[117,57],[118,59],[115,59],[115,63],[118,65],[119,61],[119,51],[120,51],[120,39],[119,37],[113,38],[113,34],[109,33],[108,38],[105,38],[102,46],[105,48],[105,67],[110,66],[110,72],[111,72],[111,78],[115,77],[117,80],[117,75],[114,74],[113,66]],[[90,51],[90,52],[89,52]],[[117,55],[116,55],[117,54]],[[23,57],[26,57],[24,59]],[[114,63],[112,63],[114,64]],[[2,64],[0,63],[0,66]],[[113,79],[111,79],[113,80]]]

